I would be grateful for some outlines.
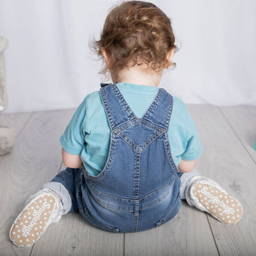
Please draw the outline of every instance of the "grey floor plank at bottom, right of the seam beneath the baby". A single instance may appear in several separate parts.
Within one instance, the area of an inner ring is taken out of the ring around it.
[[[218,255],[205,212],[182,202],[172,220],[151,230],[125,234],[125,255]]]

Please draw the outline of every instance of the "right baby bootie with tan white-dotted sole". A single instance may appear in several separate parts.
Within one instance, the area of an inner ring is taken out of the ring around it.
[[[207,177],[193,177],[186,188],[189,205],[208,212],[225,224],[236,224],[243,214],[242,205],[214,180]]]

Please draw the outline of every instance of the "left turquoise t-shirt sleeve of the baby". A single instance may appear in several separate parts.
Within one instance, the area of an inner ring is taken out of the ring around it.
[[[86,100],[76,109],[76,112],[72,116],[65,132],[60,137],[61,147],[72,155],[80,155],[84,147],[84,125],[86,120]]]

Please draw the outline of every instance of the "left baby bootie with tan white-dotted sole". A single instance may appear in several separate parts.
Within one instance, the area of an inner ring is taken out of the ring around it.
[[[52,222],[61,219],[61,200],[51,189],[41,189],[29,198],[13,222],[10,239],[19,247],[35,244]]]

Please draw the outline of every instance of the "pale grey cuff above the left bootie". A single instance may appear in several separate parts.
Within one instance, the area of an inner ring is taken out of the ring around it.
[[[51,189],[60,197],[61,203],[63,205],[62,215],[67,214],[70,211],[72,207],[72,200],[63,184],[61,184],[60,182],[49,182],[44,184],[42,189]]]

